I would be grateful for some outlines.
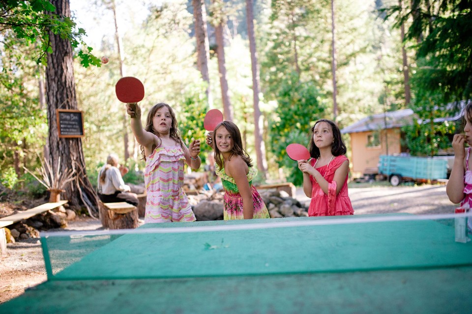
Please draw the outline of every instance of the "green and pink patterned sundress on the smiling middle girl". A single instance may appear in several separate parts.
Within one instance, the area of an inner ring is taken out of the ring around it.
[[[224,167],[220,169],[216,165],[216,174],[221,178],[223,189],[225,190],[224,196],[224,207],[223,217],[225,220],[244,219],[242,211],[242,197],[239,194],[239,189],[235,183],[235,179],[231,178],[225,173]],[[254,219],[257,218],[270,218],[269,212],[267,211],[266,204],[262,200],[261,195],[252,185],[252,179],[256,176],[257,170],[249,167],[249,173],[247,174],[247,181],[251,188],[252,199],[254,200]]]

